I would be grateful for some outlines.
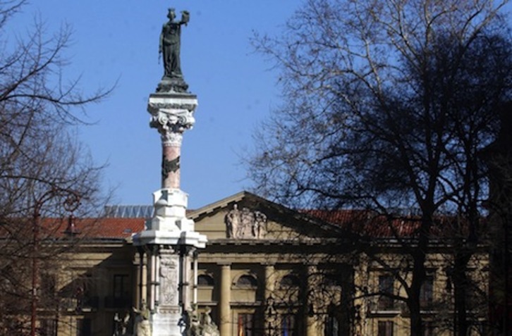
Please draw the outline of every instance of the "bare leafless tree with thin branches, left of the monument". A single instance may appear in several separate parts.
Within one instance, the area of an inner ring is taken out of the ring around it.
[[[97,215],[106,200],[102,167],[72,131],[111,88],[84,94],[79,79],[66,77],[69,27],[49,35],[36,20],[27,35],[9,35],[25,3],[0,1],[0,335],[44,328],[40,315],[59,308],[49,270],[78,243],[63,235],[62,220]]]

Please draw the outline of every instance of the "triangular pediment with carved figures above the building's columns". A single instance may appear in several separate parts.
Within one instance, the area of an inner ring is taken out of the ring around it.
[[[209,242],[317,240],[329,237],[329,231],[336,229],[250,192],[239,192],[190,211],[188,218],[195,221],[195,230],[206,235]]]

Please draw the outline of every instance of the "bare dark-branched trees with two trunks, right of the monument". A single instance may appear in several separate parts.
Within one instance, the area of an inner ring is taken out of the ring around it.
[[[456,333],[468,330],[466,266],[484,234],[480,151],[511,99],[506,1],[309,0],[281,37],[255,38],[281,70],[284,104],[255,136],[257,192],[295,208],[370,209],[406,251],[411,335],[431,240],[451,222]],[[396,209],[415,209],[408,239]],[[380,217],[382,218],[382,217]],[[383,266],[385,262],[383,261]],[[402,280],[401,280],[402,279]]]

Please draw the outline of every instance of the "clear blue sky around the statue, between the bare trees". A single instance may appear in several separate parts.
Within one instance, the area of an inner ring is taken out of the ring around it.
[[[277,73],[250,46],[252,31],[278,33],[300,5],[293,0],[32,1],[8,29],[23,35],[35,15],[48,34],[73,27],[66,50],[68,77],[82,77],[84,91],[118,81],[111,97],[87,108],[90,127],[80,138],[97,163],[108,163],[104,185],[114,187],[112,204],[150,204],[160,187],[161,144],[150,129],[147,99],[163,68],[158,39],[167,8],[190,11],[182,30],[181,67],[197,94],[193,130],[185,132],[181,189],[197,209],[250,185],[240,156],[254,145],[252,131],[279,105]],[[181,15],[178,15],[180,18]]]

